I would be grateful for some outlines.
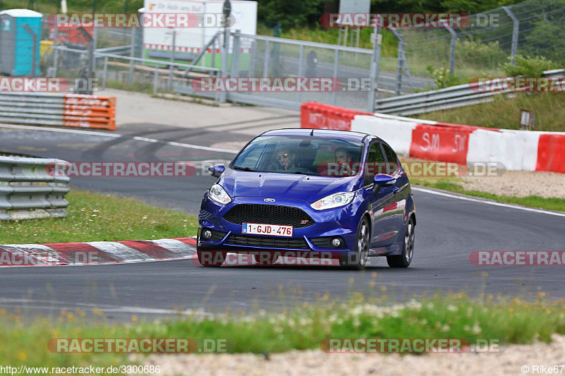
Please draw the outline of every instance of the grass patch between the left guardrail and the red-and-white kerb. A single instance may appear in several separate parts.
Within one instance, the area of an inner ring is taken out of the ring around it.
[[[131,198],[71,189],[66,218],[2,222],[0,244],[129,241],[196,235],[198,219]]]

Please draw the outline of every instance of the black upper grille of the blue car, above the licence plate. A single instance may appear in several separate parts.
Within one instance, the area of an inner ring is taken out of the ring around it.
[[[232,224],[260,223],[292,226],[295,229],[308,227],[315,222],[298,207],[283,205],[239,204],[224,215]]]

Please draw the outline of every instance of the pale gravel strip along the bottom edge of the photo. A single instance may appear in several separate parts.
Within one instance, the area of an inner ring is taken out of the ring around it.
[[[502,353],[330,354],[320,350],[255,354],[150,356],[145,364],[160,365],[167,375],[535,375],[535,366],[563,364],[565,336],[551,344],[511,345]],[[528,370],[524,367],[528,367]],[[524,368],[523,368],[524,367]],[[526,372],[523,372],[526,371]],[[547,373],[547,371],[545,372]],[[561,372],[565,373],[565,369]]]

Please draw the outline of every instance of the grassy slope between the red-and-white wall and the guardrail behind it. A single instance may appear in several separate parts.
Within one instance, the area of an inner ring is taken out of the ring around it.
[[[516,94],[494,96],[494,101],[445,111],[427,112],[412,117],[446,123],[518,129],[520,109],[535,113],[535,131],[565,132],[565,100],[562,93]]]

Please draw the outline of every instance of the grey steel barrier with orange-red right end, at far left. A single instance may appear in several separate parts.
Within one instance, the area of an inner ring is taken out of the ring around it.
[[[116,129],[116,97],[0,92],[0,122]]]

